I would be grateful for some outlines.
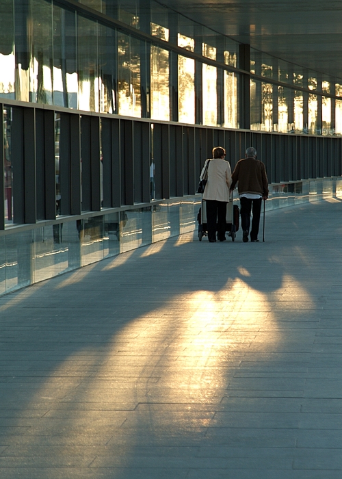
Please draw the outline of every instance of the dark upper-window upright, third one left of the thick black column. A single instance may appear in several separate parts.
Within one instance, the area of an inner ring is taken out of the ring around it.
[[[168,24],[170,29],[170,43],[178,44],[178,14],[170,12],[168,14]],[[178,121],[178,54],[170,51],[170,120]]]

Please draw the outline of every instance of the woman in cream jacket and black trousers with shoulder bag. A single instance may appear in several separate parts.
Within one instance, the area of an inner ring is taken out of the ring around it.
[[[216,241],[216,224],[218,226],[218,240],[226,239],[226,209],[229,201],[229,187],[231,186],[231,166],[224,159],[226,151],[221,146],[213,148],[213,159],[207,159],[200,174],[203,179],[207,168],[207,185],[203,193],[203,200],[207,205],[207,225],[209,242]]]

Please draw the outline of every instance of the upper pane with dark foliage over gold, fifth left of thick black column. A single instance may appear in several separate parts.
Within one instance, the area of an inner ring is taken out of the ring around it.
[[[118,33],[118,106],[120,115],[140,117],[140,41]]]

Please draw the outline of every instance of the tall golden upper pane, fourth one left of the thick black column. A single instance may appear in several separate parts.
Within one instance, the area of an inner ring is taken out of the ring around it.
[[[151,118],[170,120],[169,52],[151,46]]]

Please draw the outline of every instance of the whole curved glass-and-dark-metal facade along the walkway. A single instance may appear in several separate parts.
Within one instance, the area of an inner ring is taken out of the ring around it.
[[[341,174],[339,79],[154,0],[1,17],[0,294],[194,229],[215,145],[233,168],[254,144],[274,185]]]

